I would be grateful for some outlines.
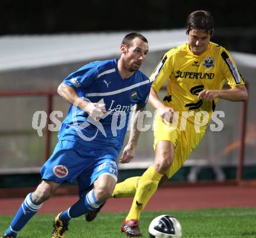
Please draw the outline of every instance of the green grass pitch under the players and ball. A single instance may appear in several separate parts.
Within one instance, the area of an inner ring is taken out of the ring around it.
[[[158,215],[176,217],[182,224],[183,238],[249,238],[256,237],[256,208],[222,208],[189,211],[144,211],[141,214],[140,229],[148,236],[148,225]],[[36,215],[19,233],[19,238],[51,237],[52,219],[55,215]],[[119,238],[125,212],[98,214],[93,222],[83,217],[72,219],[66,238]],[[12,216],[0,216],[1,234],[9,226]]]

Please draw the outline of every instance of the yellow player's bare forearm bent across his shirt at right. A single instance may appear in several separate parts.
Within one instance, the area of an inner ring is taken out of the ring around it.
[[[211,102],[215,98],[222,98],[232,102],[246,101],[248,99],[248,92],[246,86],[239,85],[230,89],[222,90],[204,89],[198,95],[198,99],[202,99],[205,102]]]

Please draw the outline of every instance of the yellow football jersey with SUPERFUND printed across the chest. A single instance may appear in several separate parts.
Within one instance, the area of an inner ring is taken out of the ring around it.
[[[166,106],[180,114],[191,110],[194,110],[194,114],[207,111],[208,122],[211,121],[218,99],[212,102],[198,100],[200,91],[222,89],[225,81],[231,87],[244,84],[230,53],[213,42],[209,42],[207,51],[200,56],[190,51],[188,43],[170,49],[163,55],[150,80],[156,92],[168,81],[168,94],[163,99]],[[194,117],[187,120],[194,122]]]

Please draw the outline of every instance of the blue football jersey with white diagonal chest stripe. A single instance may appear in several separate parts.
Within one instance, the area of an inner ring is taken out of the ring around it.
[[[140,70],[122,79],[111,59],[88,63],[63,81],[71,86],[80,98],[93,103],[105,103],[108,113],[99,121],[86,112],[70,105],[67,117],[59,130],[59,140],[86,142],[89,147],[105,147],[118,156],[127,131],[130,110],[134,104],[147,104],[151,83]]]

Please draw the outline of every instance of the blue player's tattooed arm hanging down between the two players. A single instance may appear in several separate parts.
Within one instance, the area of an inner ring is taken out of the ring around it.
[[[138,137],[140,136],[140,128],[138,128],[137,122],[138,117],[141,114],[141,111],[144,111],[145,107],[140,107],[138,105],[135,105],[135,110],[133,111],[133,115],[131,117],[130,122],[130,138],[129,142],[125,146],[125,149],[123,149],[123,154],[120,157],[119,161],[122,164],[129,163],[134,158],[135,149],[138,142]]]

